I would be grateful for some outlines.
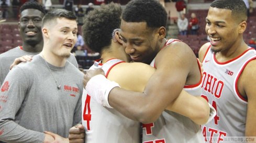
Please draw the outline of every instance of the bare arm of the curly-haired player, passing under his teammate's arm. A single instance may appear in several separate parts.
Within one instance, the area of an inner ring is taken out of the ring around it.
[[[136,92],[143,92],[155,69],[148,64],[134,62],[117,64],[108,75],[108,79],[117,82],[122,88]],[[192,96],[182,90],[166,109],[187,116],[197,124],[205,124],[209,118],[207,101]],[[204,109],[202,109],[204,108]]]

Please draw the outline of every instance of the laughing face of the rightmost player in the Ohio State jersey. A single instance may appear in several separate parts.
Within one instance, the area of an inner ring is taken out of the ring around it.
[[[218,52],[239,47],[243,23],[235,20],[231,10],[210,7],[205,31],[210,37],[211,49]]]

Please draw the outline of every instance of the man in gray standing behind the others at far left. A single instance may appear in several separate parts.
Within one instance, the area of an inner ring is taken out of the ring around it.
[[[23,46],[17,46],[0,55],[0,86],[9,72],[10,65],[18,57],[24,55],[37,55],[42,51],[43,38],[41,21],[46,11],[37,2],[27,2],[20,7],[19,32],[23,40]],[[27,57],[31,60],[31,57]],[[68,59],[78,68],[74,55]],[[26,60],[22,60],[26,61]]]

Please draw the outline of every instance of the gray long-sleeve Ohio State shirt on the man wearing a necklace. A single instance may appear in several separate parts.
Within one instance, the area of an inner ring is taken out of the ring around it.
[[[0,140],[42,142],[44,131],[68,137],[69,129],[81,123],[83,73],[69,61],[65,68],[49,67],[52,74],[36,55],[10,70],[0,92]]]

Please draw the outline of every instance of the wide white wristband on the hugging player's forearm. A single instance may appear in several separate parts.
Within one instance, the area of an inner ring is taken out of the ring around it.
[[[109,81],[104,75],[93,76],[85,86],[87,94],[102,106],[113,108],[108,103],[108,94],[114,87],[120,87],[118,83]]]

